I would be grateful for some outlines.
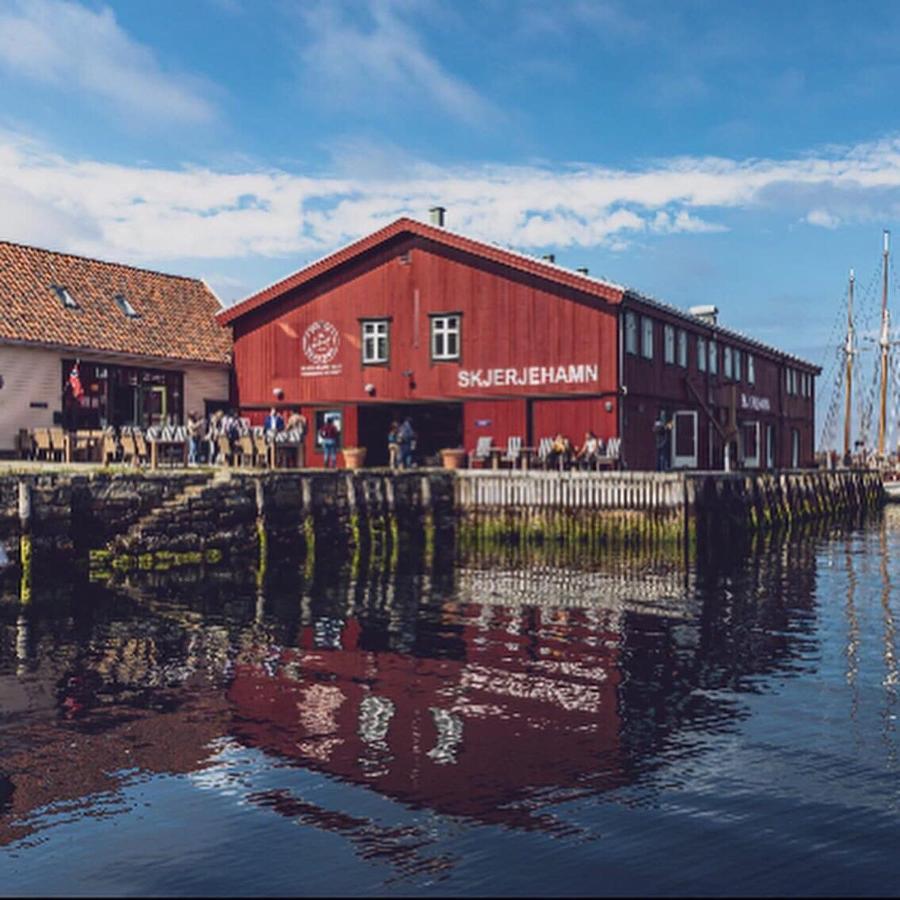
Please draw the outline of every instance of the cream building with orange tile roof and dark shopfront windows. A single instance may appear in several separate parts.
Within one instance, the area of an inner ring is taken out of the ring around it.
[[[0,241],[0,453],[20,429],[181,423],[224,405],[221,309],[196,278]]]

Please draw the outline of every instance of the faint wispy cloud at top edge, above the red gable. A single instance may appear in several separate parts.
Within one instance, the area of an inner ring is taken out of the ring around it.
[[[419,101],[470,125],[500,116],[428,52],[396,2],[375,0],[363,11],[327,0],[305,7],[304,22],[304,84],[332,106],[365,110]]]

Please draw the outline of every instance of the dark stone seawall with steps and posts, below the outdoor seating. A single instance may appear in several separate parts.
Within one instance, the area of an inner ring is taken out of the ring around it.
[[[403,541],[433,542],[453,518],[452,473],[443,470],[0,476],[0,546],[10,559],[22,535],[35,560],[390,552]]]

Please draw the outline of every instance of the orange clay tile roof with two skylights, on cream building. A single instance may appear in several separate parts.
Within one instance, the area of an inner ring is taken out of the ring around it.
[[[67,309],[54,286],[78,308]],[[119,294],[137,318],[119,307]],[[0,343],[228,363],[221,308],[196,278],[0,241]]]

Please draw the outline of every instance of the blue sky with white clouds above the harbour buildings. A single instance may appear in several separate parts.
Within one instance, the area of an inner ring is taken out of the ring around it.
[[[900,217],[898,46],[859,0],[2,0],[0,238],[227,304],[440,204],[828,377]]]

